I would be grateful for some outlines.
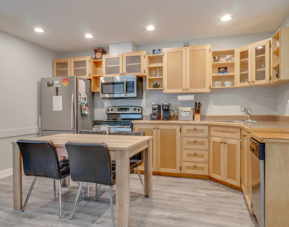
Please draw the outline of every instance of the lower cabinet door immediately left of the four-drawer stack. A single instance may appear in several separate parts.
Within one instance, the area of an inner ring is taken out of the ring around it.
[[[157,171],[180,173],[179,125],[157,125]]]

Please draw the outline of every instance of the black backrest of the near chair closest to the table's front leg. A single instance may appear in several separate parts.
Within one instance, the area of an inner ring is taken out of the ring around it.
[[[105,143],[65,143],[73,181],[112,186],[111,158]]]

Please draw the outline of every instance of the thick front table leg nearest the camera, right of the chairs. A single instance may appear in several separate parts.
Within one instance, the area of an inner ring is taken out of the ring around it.
[[[129,154],[116,150],[116,226],[128,227],[130,223]]]

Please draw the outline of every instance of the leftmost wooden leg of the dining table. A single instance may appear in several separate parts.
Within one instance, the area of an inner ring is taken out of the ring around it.
[[[17,144],[12,144],[13,208],[22,210],[22,158]]]

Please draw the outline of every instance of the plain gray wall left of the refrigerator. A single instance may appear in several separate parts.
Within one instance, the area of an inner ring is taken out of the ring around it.
[[[37,137],[40,80],[60,54],[0,31],[0,178],[12,174],[11,141]]]

